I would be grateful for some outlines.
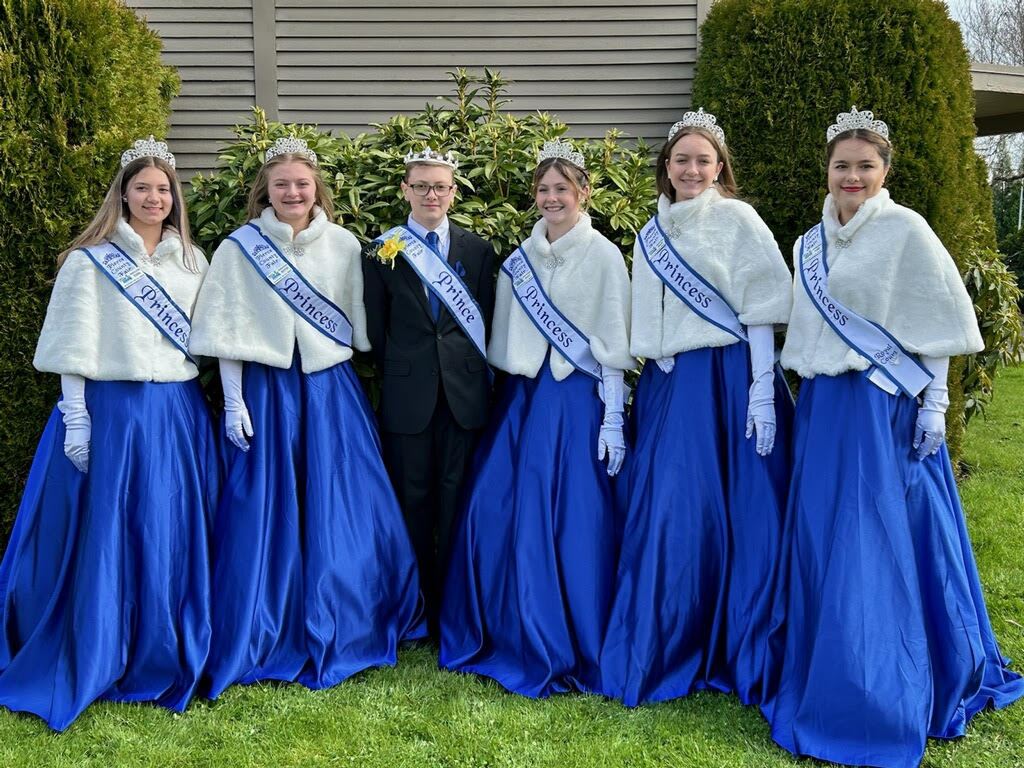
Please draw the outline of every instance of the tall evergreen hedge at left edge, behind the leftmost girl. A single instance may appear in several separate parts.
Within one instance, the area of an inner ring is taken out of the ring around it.
[[[167,132],[173,69],[118,0],[0,0],[0,549],[59,388],[32,357],[57,252],[135,138]]]

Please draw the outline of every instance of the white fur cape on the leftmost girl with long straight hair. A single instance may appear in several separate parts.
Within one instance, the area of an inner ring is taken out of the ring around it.
[[[191,311],[207,268],[198,248],[197,273],[185,268],[181,239],[173,231],[164,231],[152,256],[127,221],[118,222],[111,241],[155,278],[183,311]],[[68,254],[57,271],[33,365],[97,381],[187,381],[199,375],[82,251]]]

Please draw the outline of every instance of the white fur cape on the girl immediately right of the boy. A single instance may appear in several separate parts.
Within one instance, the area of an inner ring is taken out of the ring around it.
[[[568,232],[548,242],[541,219],[522,244],[538,281],[551,302],[590,338],[590,349],[602,366],[633,368],[630,356],[630,278],[623,254],[591,226],[590,216]],[[562,263],[556,265],[556,261]],[[510,374],[536,378],[548,353],[548,340],[537,330],[512,292],[512,281],[498,273],[498,296],[487,359]],[[575,369],[552,350],[551,373],[562,381]]]

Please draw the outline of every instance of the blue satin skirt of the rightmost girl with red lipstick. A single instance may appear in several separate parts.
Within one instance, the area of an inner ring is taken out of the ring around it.
[[[914,768],[1024,695],[985,609],[949,455],[918,461],[918,406],[860,373],[805,381],[762,706],[823,760]]]

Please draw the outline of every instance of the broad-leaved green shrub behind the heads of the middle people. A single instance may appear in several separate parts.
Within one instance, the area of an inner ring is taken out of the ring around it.
[[[406,154],[425,144],[455,150],[460,190],[452,220],[493,242],[500,255],[511,253],[538,217],[530,195],[537,152],[567,126],[544,113],[505,112],[507,83],[500,73],[449,74],[455,95],[446,105],[427,104],[351,138],[315,126],[268,123],[255,109],[252,124],[236,127],[238,140],[224,147],[217,171],[193,180],[188,208],[200,245],[212,251],[245,222],[246,199],[263,153],[279,136],[294,135],[306,139],[318,157],[334,193],[336,220],[362,242],[408,216],[399,189]],[[637,229],[653,211],[655,194],[647,147],[623,145],[620,137],[609,131],[603,140],[575,143],[590,171],[594,225],[628,256]]]

